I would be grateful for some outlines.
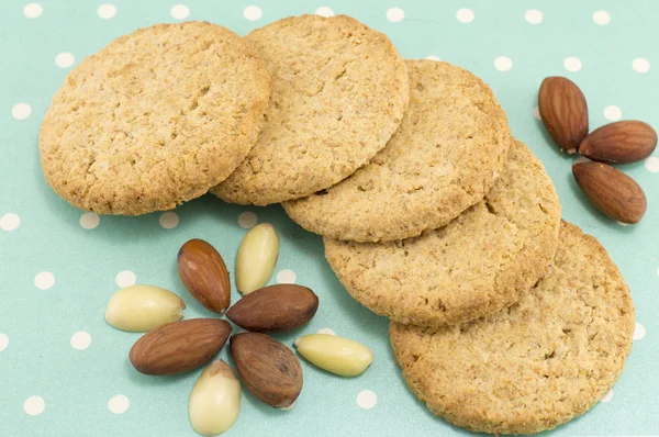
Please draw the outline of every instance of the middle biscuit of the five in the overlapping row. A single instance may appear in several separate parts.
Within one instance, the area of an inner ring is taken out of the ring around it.
[[[406,65],[410,108],[387,147],[336,186],[283,204],[308,231],[356,242],[414,237],[482,200],[501,173],[511,134],[490,88],[447,63]]]

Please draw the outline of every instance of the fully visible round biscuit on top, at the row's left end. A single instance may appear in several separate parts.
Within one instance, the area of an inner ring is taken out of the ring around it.
[[[159,24],[86,58],[41,130],[46,180],[101,214],[168,210],[224,180],[256,142],[265,64],[210,23]]]

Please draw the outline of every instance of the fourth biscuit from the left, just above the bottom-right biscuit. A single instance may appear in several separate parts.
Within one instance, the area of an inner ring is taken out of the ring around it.
[[[516,302],[545,273],[558,244],[560,204],[540,161],[521,142],[481,202],[415,238],[324,238],[325,256],[361,304],[396,322],[450,325]]]

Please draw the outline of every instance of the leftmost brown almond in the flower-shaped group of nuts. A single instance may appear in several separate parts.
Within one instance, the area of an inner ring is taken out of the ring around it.
[[[139,338],[130,359],[145,374],[176,374],[209,361],[222,349],[231,325],[219,318],[192,318],[168,323]]]

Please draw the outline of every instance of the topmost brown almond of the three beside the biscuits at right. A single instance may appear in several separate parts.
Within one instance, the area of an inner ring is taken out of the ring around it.
[[[538,109],[554,142],[568,154],[576,153],[588,135],[588,104],[579,87],[565,77],[545,78]]]

